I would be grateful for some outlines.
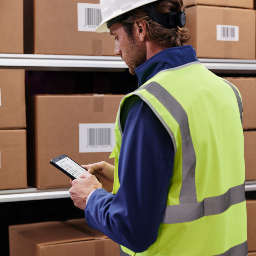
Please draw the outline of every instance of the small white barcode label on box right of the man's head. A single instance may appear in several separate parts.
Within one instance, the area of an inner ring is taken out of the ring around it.
[[[239,41],[239,27],[229,25],[217,25],[218,41]]]

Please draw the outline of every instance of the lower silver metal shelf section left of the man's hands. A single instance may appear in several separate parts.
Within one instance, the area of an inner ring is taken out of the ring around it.
[[[71,197],[69,187],[53,189],[10,189],[0,191],[0,203]]]

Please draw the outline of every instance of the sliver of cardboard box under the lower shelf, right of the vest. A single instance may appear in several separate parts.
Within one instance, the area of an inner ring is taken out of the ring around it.
[[[246,200],[246,211],[248,251],[256,251],[256,200]]]

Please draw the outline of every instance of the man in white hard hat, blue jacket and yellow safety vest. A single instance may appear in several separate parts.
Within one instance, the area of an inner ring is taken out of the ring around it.
[[[241,96],[186,45],[184,8],[101,1],[97,31],[109,29],[139,88],[120,103],[115,167],[85,165],[71,198],[121,255],[246,256]]]

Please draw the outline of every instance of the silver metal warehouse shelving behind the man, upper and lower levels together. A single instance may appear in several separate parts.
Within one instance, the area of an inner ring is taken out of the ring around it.
[[[256,60],[204,59],[199,61],[214,73],[256,74]],[[117,56],[42,55],[0,53],[0,68],[38,71],[124,71]],[[245,191],[256,191],[256,181],[246,181]],[[69,188],[13,189],[0,191],[0,203],[70,197]]]

